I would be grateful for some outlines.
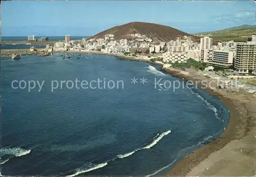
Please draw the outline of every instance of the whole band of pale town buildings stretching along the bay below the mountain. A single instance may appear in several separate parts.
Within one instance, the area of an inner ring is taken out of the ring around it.
[[[132,40],[115,40],[113,34],[107,34],[103,38],[90,38],[82,40],[70,40],[65,36],[65,42],[56,42],[54,51],[101,51],[105,53],[145,53],[148,55],[158,53],[164,63],[183,63],[192,58],[210,65],[228,68],[234,65],[239,73],[249,73],[256,70],[256,38],[255,35],[248,38],[247,42],[219,42],[213,45],[213,39],[204,36],[200,43],[194,42],[189,36],[161,41],[160,44],[152,43],[145,35],[131,34]]]

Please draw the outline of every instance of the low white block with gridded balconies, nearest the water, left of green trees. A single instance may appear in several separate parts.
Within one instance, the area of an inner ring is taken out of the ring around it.
[[[171,63],[186,63],[187,54],[185,52],[165,52],[163,55],[163,62]]]

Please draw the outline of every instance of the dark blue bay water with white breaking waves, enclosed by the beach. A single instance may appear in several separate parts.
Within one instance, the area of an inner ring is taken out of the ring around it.
[[[163,175],[229,118],[217,97],[150,63],[27,55],[2,57],[1,70],[4,176]]]

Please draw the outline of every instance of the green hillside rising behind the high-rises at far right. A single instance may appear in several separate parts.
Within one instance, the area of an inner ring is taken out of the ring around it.
[[[253,25],[242,25],[238,27],[232,27],[228,29],[223,29],[219,31],[212,31],[212,32],[202,32],[196,33],[202,35],[211,34],[212,38],[214,38],[214,42],[225,42],[229,40],[234,41],[247,41],[248,37],[251,35],[256,34],[256,27]]]

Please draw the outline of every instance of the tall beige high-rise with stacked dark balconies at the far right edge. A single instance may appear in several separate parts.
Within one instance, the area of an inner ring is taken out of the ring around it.
[[[237,44],[234,68],[239,73],[249,73],[256,70],[256,41],[239,42]]]

